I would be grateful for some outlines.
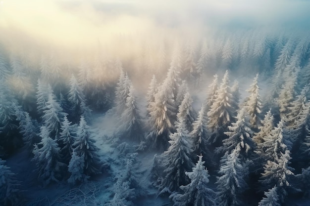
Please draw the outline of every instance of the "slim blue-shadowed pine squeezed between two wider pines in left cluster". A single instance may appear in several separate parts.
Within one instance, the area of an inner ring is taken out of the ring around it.
[[[75,141],[74,125],[68,120],[67,116],[64,116],[63,121],[61,121],[61,127],[59,132],[59,138],[57,140],[60,145],[60,154],[62,155],[62,162],[69,164],[69,161],[73,152],[73,143]]]

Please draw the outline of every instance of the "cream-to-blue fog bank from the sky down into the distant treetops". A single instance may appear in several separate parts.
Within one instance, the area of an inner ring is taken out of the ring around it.
[[[42,56],[71,69],[119,58],[133,81],[149,83],[152,74],[165,77],[176,45],[180,53],[192,46],[198,61],[205,41],[204,74],[212,76],[227,69],[214,63],[227,40],[238,49],[244,41],[300,39],[310,28],[309,7],[308,0],[1,0],[0,41],[8,56],[27,59],[34,70]],[[248,63],[236,67],[261,70]]]

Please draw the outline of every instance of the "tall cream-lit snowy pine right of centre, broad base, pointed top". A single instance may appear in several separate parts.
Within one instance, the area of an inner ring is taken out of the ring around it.
[[[226,130],[227,126],[234,120],[233,114],[235,111],[232,107],[234,103],[228,83],[228,70],[226,70],[222,83],[217,90],[217,95],[207,113],[207,125],[211,132],[219,129]]]

